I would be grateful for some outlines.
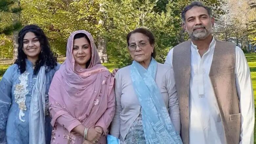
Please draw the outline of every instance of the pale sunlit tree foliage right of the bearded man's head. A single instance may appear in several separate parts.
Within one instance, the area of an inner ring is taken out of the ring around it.
[[[225,13],[216,23],[215,34],[220,40],[235,40],[244,52],[256,43],[256,7],[254,0],[228,0],[222,6]]]

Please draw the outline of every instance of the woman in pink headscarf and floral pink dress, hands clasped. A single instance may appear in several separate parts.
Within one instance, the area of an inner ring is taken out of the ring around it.
[[[66,56],[49,89],[51,143],[106,144],[115,113],[114,78],[87,31],[71,34]]]

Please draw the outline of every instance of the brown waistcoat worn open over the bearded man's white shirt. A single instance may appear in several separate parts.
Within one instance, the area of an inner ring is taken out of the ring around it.
[[[190,46],[191,40],[175,46],[172,63],[181,112],[181,138],[184,144],[189,144]],[[241,114],[236,90],[235,54],[234,43],[217,40],[209,72],[220,109],[226,144],[239,144],[240,141]]]

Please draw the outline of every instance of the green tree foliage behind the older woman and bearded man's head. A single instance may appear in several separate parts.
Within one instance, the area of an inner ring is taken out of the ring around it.
[[[181,28],[181,11],[191,0],[104,0],[108,16],[108,50],[131,62],[126,35],[138,27],[151,30],[156,37],[157,59],[163,62],[169,49],[188,37]],[[205,0],[218,17],[222,0]]]

